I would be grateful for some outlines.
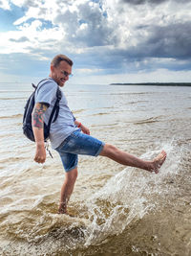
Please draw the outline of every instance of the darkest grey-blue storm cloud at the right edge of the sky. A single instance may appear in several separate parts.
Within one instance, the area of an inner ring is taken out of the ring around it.
[[[140,57],[191,58],[191,22],[151,26],[134,52]]]

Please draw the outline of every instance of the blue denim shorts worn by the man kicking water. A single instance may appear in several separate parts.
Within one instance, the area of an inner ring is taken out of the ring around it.
[[[78,154],[97,156],[104,145],[103,142],[78,129],[68,136],[55,151],[58,151],[65,171],[70,172],[77,166]]]

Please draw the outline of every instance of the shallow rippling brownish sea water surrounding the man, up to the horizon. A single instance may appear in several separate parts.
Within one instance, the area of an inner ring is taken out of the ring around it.
[[[191,88],[66,85],[93,136],[145,159],[168,154],[159,175],[80,156],[74,218],[56,214],[58,154],[38,165],[22,134],[30,91],[0,84],[0,255],[190,255]]]

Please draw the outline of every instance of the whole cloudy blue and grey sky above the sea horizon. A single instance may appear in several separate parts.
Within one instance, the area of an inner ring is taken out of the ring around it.
[[[0,81],[191,81],[191,0],[0,0]]]

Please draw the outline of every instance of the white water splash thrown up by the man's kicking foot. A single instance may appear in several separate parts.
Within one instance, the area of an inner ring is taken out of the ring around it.
[[[167,152],[167,159],[158,175],[125,168],[86,202],[91,221],[85,233],[86,246],[121,233],[129,223],[159,209],[162,201],[165,203],[166,196],[173,193],[169,184],[179,172],[181,153],[178,153],[174,141],[159,148]],[[159,149],[156,149],[141,157],[152,159],[158,153]]]

